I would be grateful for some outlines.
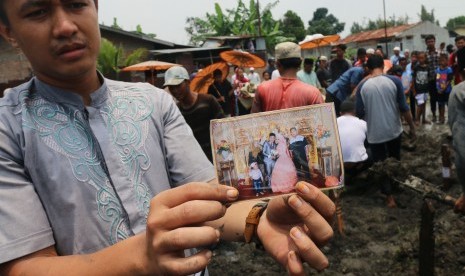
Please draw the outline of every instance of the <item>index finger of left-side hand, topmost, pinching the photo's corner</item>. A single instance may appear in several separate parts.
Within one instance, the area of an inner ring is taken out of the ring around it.
[[[237,199],[237,189],[209,183],[188,183],[159,193],[151,201],[151,208],[172,208],[191,200],[214,200],[230,202]]]

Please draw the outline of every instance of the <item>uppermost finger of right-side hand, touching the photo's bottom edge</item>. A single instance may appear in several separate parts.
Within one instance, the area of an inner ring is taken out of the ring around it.
[[[336,206],[320,189],[310,183],[300,181],[296,184],[297,194],[315,208],[327,221],[332,221]]]

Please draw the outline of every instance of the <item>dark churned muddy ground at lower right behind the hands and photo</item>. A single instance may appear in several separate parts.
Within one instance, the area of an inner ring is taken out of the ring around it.
[[[407,127],[408,128],[408,127]],[[427,125],[417,130],[415,150],[404,148],[402,164],[382,168],[399,180],[409,174],[434,185],[442,184],[441,144],[451,144],[447,125]],[[378,167],[377,167],[378,168]],[[393,173],[394,171],[394,173]],[[323,248],[330,267],[309,275],[418,275],[419,229],[423,197],[400,186],[395,192],[397,209],[385,207],[377,174],[351,181],[342,193],[345,236],[337,233]],[[458,197],[460,187],[452,172],[448,194]],[[451,206],[433,201],[435,208],[435,275],[465,275],[465,217]],[[286,271],[253,245],[221,243],[209,266],[210,275],[286,275]]]

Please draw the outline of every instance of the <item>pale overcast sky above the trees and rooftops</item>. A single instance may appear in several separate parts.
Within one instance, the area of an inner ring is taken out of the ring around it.
[[[248,5],[249,0],[243,0]],[[189,16],[205,17],[207,12],[214,12],[214,3],[220,3],[225,12],[237,5],[237,0],[100,0],[100,23],[111,26],[116,17],[118,25],[124,30],[132,31],[140,24],[144,33],[155,33],[157,38],[180,44],[187,44],[188,35],[186,18]],[[261,0],[265,6],[273,1]],[[428,11],[434,9],[434,15],[441,26],[445,26],[449,18],[465,15],[463,0],[386,0],[386,16],[405,16],[410,23],[418,22],[421,5]],[[308,26],[313,18],[313,12],[320,7],[326,7],[340,22],[346,26],[343,36],[348,35],[353,22],[363,23],[368,19],[383,17],[382,0],[281,0],[272,13],[275,19],[283,17],[292,10],[297,13]]]

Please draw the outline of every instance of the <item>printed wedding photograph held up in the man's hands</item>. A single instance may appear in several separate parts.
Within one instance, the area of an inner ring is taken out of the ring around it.
[[[319,104],[210,123],[220,184],[241,200],[294,192],[299,181],[341,188],[343,161],[332,104]]]

